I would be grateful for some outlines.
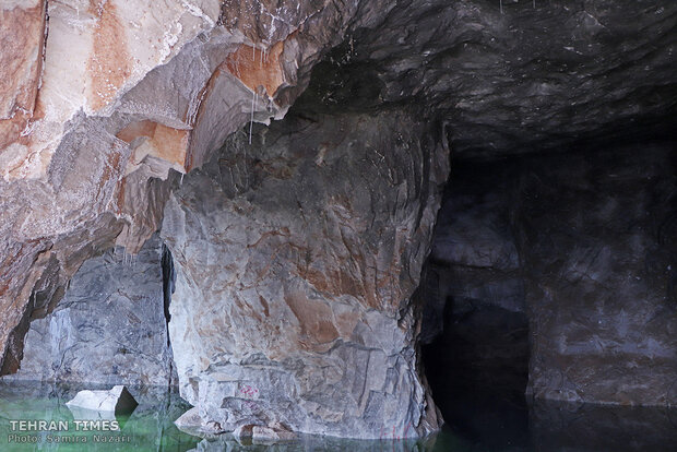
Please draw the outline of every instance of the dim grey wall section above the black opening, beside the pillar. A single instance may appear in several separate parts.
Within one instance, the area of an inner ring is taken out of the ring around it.
[[[455,162],[437,217],[419,297],[421,341],[446,322],[483,309],[526,312],[524,282],[511,224],[514,190],[492,166]]]

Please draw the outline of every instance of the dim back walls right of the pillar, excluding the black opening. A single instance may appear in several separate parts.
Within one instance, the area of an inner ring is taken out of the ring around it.
[[[486,307],[526,312],[534,397],[675,404],[675,155],[645,144],[456,166],[424,272],[428,338],[444,309],[461,325]]]

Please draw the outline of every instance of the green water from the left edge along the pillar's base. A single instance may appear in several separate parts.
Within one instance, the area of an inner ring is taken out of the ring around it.
[[[0,382],[0,451],[433,451],[435,438],[425,440],[355,441],[335,438],[301,437],[283,444],[238,442],[229,436],[202,439],[181,432],[176,420],[188,408],[176,393],[153,388],[130,388],[139,406],[130,416],[107,419],[120,425],[119,431],[83,431],[82,417],[74,417],[66,402],[82,389],[109,389],[87,385],[49,385],[31,382]],[[45,420],[47,430],[67,426],[62,431],[39,431],[20,420]],[[100,420],[100,419],[99,419]],[[14,421],[12,424],[12,421]],[[50,426],[49,423],[55,425]],[[110,425],[110,424],[109,424]],[[100,427],[102,425],[99,425]],[[451,438],[450,438],[451,439]],[[112,441],[112,442],[109,442]]]

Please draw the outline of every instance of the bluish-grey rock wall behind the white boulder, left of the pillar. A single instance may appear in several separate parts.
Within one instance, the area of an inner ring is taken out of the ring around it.
[[[151,384],[176,382],[163,290],[163,247],[121,248],[86,261],[54,312],[36,310],[21,369],[11,380]],[[54,307],[52,307],[54,309]]]

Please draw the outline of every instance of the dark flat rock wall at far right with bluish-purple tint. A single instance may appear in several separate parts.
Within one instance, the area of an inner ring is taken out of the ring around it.
[[[672,145],[531,167],[516,211],[528,392],[677,403],[677,166]]]

